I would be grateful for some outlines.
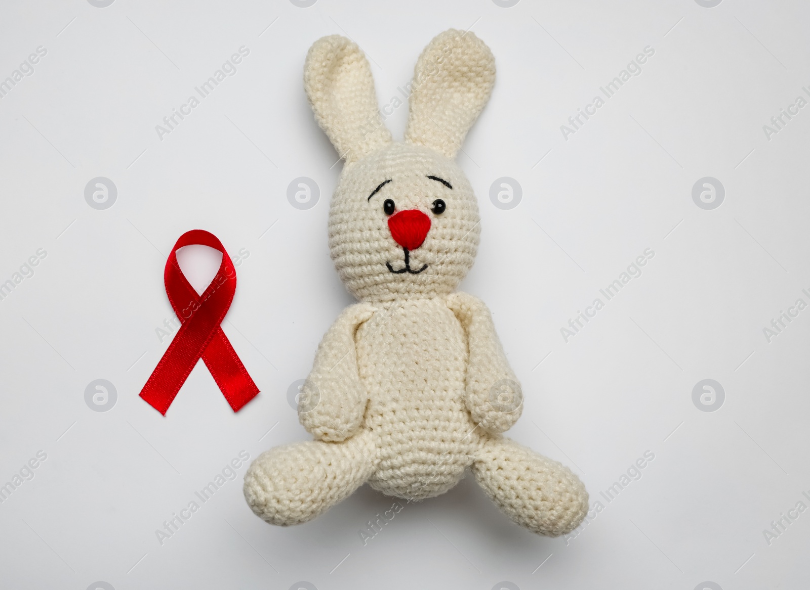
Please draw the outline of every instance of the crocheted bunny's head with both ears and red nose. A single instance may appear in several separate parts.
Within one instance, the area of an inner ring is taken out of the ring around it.
[[[494,83],[495,60],[483,41],[471,32],[441,33],[416,63],[405,140],[394,142],[360,48],[335,35],[309,49],[305,90],[345,159],[330,205],[329,247],[357,299],[450,293],[470,270],[480,218],[454,158]]]

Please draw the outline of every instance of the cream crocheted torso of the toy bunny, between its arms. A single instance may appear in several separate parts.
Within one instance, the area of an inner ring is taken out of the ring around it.
[[[369,485],[423,499],[455,486],[479,443],[464,405],[466,338],[445,297],[394,305],[393,313],[381,310],[383,329],[367,322],[357,333],[369,388],[365,424],[379,461]]]

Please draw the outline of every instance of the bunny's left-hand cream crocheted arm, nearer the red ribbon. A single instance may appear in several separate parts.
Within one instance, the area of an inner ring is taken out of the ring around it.
[[[355,333],[373,313],[370,303],[349,306],[318,345],[298,399],[298,419],[316,439],[347,439],[363,422],[369,395],[357,372]]]

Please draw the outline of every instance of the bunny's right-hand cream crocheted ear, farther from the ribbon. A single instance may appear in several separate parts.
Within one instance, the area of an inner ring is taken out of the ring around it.
[[[494,84],[495,58],[484,41],[456,29],[440,33],[416,62],[405,141],[453,159]]]

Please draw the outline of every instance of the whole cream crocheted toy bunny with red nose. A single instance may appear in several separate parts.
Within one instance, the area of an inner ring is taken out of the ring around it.
[[[480,218],[453,160],[494,82],[481,40],[441,33],[416,64],[405,140],[394,142],[357,45],[327,36],[309,49],[306,94],[345,159],[331,257],[360,303],[323,337],[301,389],[299,418],[314,440],[264,452],[245,474],[245,499],[267,522],[306,522],[364,482],[429,498],[467,467],[535,533],[569,533],[585,516],[588,495],[569,469],[501,435],[521,414],[520,386],[484,303],[454,292]]]

